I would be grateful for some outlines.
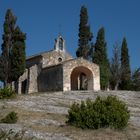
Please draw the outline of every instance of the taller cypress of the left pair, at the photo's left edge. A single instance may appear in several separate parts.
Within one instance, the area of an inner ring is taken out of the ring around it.
[[[13,32],[15,29],[16,17],[13,15],[10,9],[7,10],[5,16],[5,22],[3,25],[3,44],[1,54],[1,81],[4,82],[4,86],[8,86],[11,82],[11,59],[10,51],[13,46]]]

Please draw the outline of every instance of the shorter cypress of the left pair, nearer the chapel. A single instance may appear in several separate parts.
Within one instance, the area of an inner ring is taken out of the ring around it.
[[[16,27],[14,31],[14,44],[11,50],[11,72],[13,81],[17,81],[25,70],[25,39],[26,35],[22,33],[19,27]]]

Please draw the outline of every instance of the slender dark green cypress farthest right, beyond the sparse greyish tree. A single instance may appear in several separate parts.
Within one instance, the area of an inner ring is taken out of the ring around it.
[[[127,41],[123,38],[121,47],[121,83],[120,89],[129,90],[131,84],[131,70],[129,64],[129,54],[127,48]]]

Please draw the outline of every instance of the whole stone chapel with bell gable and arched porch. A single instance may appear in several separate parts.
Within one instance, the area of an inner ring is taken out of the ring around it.
[[[83,58],[72,58],[64,38],[55,39],[54,49],[26,59],[26,70],[15,86],[17,92],[100,90],[99,66]]]

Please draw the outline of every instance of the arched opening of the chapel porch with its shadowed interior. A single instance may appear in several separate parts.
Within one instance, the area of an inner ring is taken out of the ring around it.
[[[86,67],[79,66],[72,70],[71,90],[93,90],[93,74]]]

